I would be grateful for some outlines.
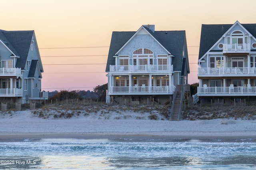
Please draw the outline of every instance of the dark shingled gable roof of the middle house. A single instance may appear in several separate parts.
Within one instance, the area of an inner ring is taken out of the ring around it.
[[[148,33],[153,36],[160,45],[162,45],[167,51],[174,55],[172,59],[174,71],[182,71],[182,52],[183,47],[186,45],[186,32],[185,31],[154,31],[149,28],[145,28]],[[110,65],[115,65],[115,58],[113,57],[125,44],[134,36],[136,32],[112,32],[112,38],[110,42],[110,48],[108,52],[108,61],[106,65],[106,72],[109,71]],[[138,47],[139,48],[139,47]],[[186,47],[185,47],[186,49]],[[187,49],[186,49],[187,50]],[[187,55],[187,51],[186,51]],[[187,57],[187,56],[186,56]],[[187,58],[188,59],[188,58]],[[189,68],[188,68],[189,72]]]

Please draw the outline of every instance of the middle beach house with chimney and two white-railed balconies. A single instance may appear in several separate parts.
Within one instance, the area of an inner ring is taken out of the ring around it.
[[[113,32],[106,65],[106,102],[171,103],[177,85],[188,84],[185,31]]]

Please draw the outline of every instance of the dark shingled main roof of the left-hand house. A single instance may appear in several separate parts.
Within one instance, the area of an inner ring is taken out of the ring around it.
[[[20,58],[17,59],[17,68],[25,68],[28,51],[34,31],[4,31],[0,30],[0,40]]]

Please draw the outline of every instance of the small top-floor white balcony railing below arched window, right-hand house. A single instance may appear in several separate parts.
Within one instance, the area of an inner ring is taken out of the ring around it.
[[[223,53],[250,53],[250,50],[248,43],[223,44]]]

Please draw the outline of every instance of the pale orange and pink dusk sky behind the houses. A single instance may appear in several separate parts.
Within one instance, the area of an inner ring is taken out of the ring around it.
[[[42,90],[90,90],[107,83],[113,31],[185,30],[190,75],[198,83],[202,24],[256,23],[255,0],[2,0],[1,30],[34,30]]]

